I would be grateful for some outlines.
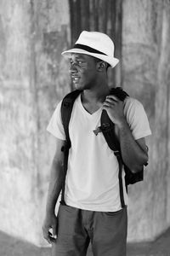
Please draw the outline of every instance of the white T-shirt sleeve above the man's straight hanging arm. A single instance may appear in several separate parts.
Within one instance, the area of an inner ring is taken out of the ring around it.
[[[65,140],[65,131],[61,120],[60,108],[61,102],[59,102],[51,119],[49,120],[47,131],[49,131],[54,137],[57,137],[60,140]]]

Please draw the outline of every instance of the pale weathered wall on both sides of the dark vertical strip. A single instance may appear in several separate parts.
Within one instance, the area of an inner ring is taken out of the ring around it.
[[[124,0],[122,8],[122,86],[143,102],[153,133],[144,182],[129,188],[128,241],[142,241],[170,225],[170,7]],[[71,44],[68,1],[2,0],[0,33],[0,226],[47,245],[41,226],[55,141],[46,127],[70,90],[60,55]]]

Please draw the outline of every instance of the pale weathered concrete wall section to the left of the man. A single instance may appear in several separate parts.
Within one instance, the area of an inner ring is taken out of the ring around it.
[[[67,1],[0,1],[0,226],[38,245],[54,154],[46,125],[69,90],[68,24]]]

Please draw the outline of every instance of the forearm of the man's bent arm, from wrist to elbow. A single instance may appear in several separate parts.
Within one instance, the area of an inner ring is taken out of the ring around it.
[[[123,162],[132,172],[139,172],[147,162],[148,155],[134,140],[126,120],[119,126],[119,138]]]

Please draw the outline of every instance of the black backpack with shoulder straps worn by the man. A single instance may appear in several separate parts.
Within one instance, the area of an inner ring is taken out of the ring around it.
[[[65,176],[67,172],[67,161],[69,155],[69,149],[71,148],[71,139],[69,136],[69,122],[71,119],[71,112],[74,105],[74,102],[77,96],[81,93],[81,90],[73,90],[71,93],[67,94],[62,103],[61,103],[61,119],[65,130],[65,137],[66,143],[65,147],[62,148],[64,151],[65,158],[64,158],[64,178],[63,178],[63,185],[62,185],[62,195],[61,195],[61,203],[65,204]],[[116,87],[111,89],[111,95],[117,96],[121,101],[128,96],[127,93],[122,90],[121,87]],[[115,125],[109,118],[107,112],[105,110],[102,111],[101,114],[101,125],[98,127],[97,130],[94,131],[94,134],[97,136],[98,132],[102,132],[108,146],[113,150],[114,154],[119,163],[119,187],[120,187],[120,197],[122,202],[122,207],[125,206],[124,198],[123,198],[123,186],[122,186],[122,166],[124,166],[125,170],[125,184],[126,189],[127,185],[137,183],[144,179],[144,170],[141,172],[133,173],[129,170],[129,168],[123,163],[122,155],[121,155],[121,148],[120,143],[115,134]]]

